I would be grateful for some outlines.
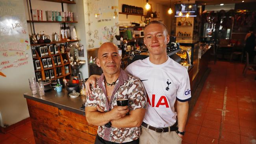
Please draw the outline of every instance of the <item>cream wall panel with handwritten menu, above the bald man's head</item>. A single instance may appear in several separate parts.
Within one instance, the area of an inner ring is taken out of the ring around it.
[[[85,6],[87,48],[113,42],[119,35],[118,0],[86,0]]]

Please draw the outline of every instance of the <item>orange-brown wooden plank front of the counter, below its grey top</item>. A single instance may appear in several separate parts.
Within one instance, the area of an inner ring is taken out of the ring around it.
[[[94,144],[97,126],[84,115],[26,98],[37,144]]]

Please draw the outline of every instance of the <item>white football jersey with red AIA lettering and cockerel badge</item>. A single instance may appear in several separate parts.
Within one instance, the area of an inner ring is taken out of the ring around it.
[[[186,102],[191,98],[186,68],[170,57],[160,65],[151,63],[147,57],[128,65],[126,72],[139,78],[147,91],[147,111],[143,122],[153,127],[175,124],[175,101]]]

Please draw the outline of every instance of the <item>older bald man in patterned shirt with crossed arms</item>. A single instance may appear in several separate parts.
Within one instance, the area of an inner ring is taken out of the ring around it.
[[[147,103],[143,84],[120,68],[118,48],[111,42],[100,46],[97,65],[103,74],[85,103],[87,122],[98,126],[95,144],[138,144]],[[119,98],[132,101],[129,109],[117,106]]]

